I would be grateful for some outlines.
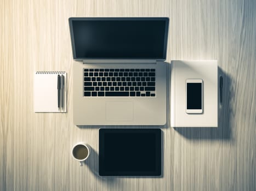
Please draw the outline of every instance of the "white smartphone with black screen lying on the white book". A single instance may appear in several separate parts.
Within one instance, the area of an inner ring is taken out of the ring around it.
[[[186,113],[203,113],[203,80],[186,79]]]

